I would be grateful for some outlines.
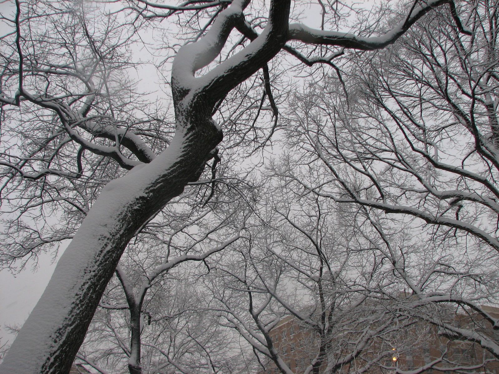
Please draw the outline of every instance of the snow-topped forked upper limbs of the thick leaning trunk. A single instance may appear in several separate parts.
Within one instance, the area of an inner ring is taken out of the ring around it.
[[[197,70],[207,66],[219,55],[233,28],[247,28],[243,10],[248,3],[247,0],[234,1],[218,15],[202,38],[184,45],[179,50],[172,67],[172,82],[175,82],[179,89],[188,92],[193,90],[196,93],[202,90],[204,98],[216,102],[250,77],[281,49],[287,34],[289,0],[272,1],[267,25],[260,35],[243,50],[205,75],[194,77]]]

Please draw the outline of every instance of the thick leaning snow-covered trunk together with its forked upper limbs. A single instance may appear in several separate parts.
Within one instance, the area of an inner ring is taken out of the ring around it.
[[[234,27],[244,25],[248,2],[234,1],[203,38],[179,50],[172,69],[174,139],[151,163],[103,189],[12,344],[1,374],[69,372],[125,246],[170,199],[199,178],[222,140],[212,119],[215,103],[284,45],[289,3],[272,1],[261,35],[204,76],[196,78],[194,73],[217,57]]]

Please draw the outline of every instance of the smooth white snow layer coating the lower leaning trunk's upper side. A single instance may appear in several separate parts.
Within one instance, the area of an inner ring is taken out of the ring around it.
[[[51,357],[50,352],[56,351],[64,336],[54,336],[53,332],[71,323],[68,311],[74,307],[75,295],[85,297],[86,285],[97,274],[96,258],[103,257],[109,249],[102,241],[110,232],[119,230],[123,207],[144,196],[148,187],[182,156],[184,140],[185,133],[179,129],[170,147],[150,164],[134,168],[132,173],[110,182],[103,189],[12,344],[0,366],[1,374],[37,373],[45,358]]]

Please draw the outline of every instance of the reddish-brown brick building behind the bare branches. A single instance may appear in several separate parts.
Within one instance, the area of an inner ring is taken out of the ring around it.
[[[483,307],[493,318],[499,318],[499,308]],[[485,321],[477,313],[454,314],[452,326],[469,328],[488,334],[499,343],[499,333],[492,328],[491,323]],[[455,341],[446,337],[445,331],[433,324],[423,321],[414,321],[400,331],[393,329],[392,339],[386,336],[373,337],[364,347],[362,355],[353,358],[345,365],[335,366],[333,373],[362,372],[366,374],[399,372],[449,374],[460,373],[490,373],[499,374],[499,359],[479,344],[471,341]],[[280,357],[294,373],[303,373],[312,363],[318,353],[317,334],[298,323],[293,316],[283,318],[270,336]],[[347,333],[334,336],[338,341],[354,341],[354,334]],[[400,344],[400,345],[399,345]],[[341,355],[350,351],[341,351],[335,346],[335,352],[328,352],[327,358],[316,373],[324,373],[327,363],[338,362]],[[440,369],[440,370],[439,370]],[[260,374],[280,373],[275,364],[269,360],[265,370]],[[313,373],[310,371],[310,373]]]

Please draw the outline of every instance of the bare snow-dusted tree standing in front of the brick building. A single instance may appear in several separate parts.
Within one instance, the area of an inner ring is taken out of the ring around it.
[[[251,345],[259,371],[459,372],[498,360],[497,315],[481,307],[497,294],[496,267],[435,246],[411,221],[278,180],[267,183],[268,222],[208,281],[221,323]],[[477,346],[453,331],[476,337],[481,354],[457,358]],[[404,357],[397,367],[393,349]]]

